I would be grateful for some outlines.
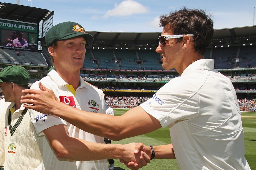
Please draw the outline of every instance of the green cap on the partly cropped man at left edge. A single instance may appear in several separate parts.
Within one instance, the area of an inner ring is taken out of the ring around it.
[[[28,85],[29,81],[29,72],[21,66],[8,66],[0,72],[0,82],[13,82],[17,85]]]

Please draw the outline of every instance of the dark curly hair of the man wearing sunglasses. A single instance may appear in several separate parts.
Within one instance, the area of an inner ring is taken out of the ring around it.
[[[204,55],[214,34],[211,15],[201,9],[186,9],[170,12],[160,16],[160,27],[170,26],[174,35],[194,34],[194,49],[198,54]],[[177,43],[182,38],[177,39]]]

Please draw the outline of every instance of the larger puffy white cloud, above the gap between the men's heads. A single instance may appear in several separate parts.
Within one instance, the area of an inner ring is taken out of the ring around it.
[[[126,0],[120,4],[115,4],[115,8],[108,10],[103,17],[108,18],[112,16],[129,16],[132,14],[147,13],[148,11],[149,7],[143,6],[142,4],[133,0]]]

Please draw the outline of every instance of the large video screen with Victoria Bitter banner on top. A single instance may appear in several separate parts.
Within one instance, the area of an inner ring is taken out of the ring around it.
[[[0,19],[0,48],[38,51],[38,25]]]

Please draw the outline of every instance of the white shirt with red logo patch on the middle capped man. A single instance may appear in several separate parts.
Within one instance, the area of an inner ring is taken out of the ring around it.
[[[74,90],[72,85],[68,85],[55,70],[49,72],[48,76],[43,77],[40,81],[46,88],[53,90],[54,94],[61,102],[80,110],[105,114],[105,101],[102,90],[86,84],[81,76],[81,85],[76,90]],[[31,86],[31,89],[39,89],[38,82],[35,82]],[[45,169],[108,170],[107,159],[96,161],[72,161],[58,158],[51,149],[42,131],[54,125],[66,124],[69,136],[71,137],[78,137],[94,143],[104,143],[103,137],[84,132],[58,116],[45,115],[30,109],[29,113],[38,135],[39,140],[37,140],[37,143],[41,150]]]

